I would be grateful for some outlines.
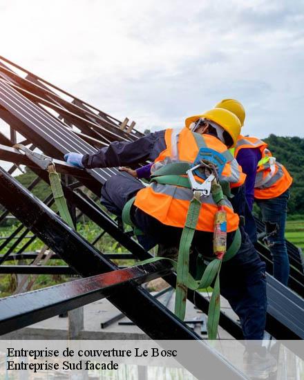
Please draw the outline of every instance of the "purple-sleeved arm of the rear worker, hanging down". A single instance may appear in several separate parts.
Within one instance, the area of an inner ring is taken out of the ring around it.
[[[246,174],[246,199],[250,210],[254,205],[254,182],[256,182],[256,169],[260,158],[261,154],[258,148],[240,149],[236,156],[238,164],[242,167],[243,173]]]

